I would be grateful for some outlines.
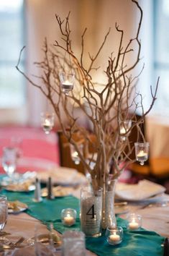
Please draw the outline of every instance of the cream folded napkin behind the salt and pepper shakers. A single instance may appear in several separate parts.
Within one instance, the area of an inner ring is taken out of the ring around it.
[[[60,185],[76,185],[86,182],[86,176],[73,168],[56,167],[37,173],[37,178],[40,179],[41,182],[47,182],[49,177],[52,178],[53,184]]]

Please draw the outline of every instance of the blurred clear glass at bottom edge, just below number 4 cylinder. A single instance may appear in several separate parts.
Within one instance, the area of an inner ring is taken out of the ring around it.
[[[82,231],[63,233],[62,256],[86,256],[85,234]]]

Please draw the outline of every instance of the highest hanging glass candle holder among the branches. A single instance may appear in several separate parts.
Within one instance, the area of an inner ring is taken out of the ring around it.
[[[63,93],[65,95],[68,95],[68,93],[73,90],[75,75],[70,73],[60,73],[60,86],[63,90]]]

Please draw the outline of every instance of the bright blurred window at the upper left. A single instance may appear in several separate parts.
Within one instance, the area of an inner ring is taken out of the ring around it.
[[[24,78],[15,68],[24,46],[23,6],[24,0],[0,0],[0,108],[24,104]]]

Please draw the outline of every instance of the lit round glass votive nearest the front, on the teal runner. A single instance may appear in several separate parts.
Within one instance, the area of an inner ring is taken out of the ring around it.
[[[123,229],[121,226],[107,227],[106,228],[106,240],[111,245],[117,245],[122,242]]]

